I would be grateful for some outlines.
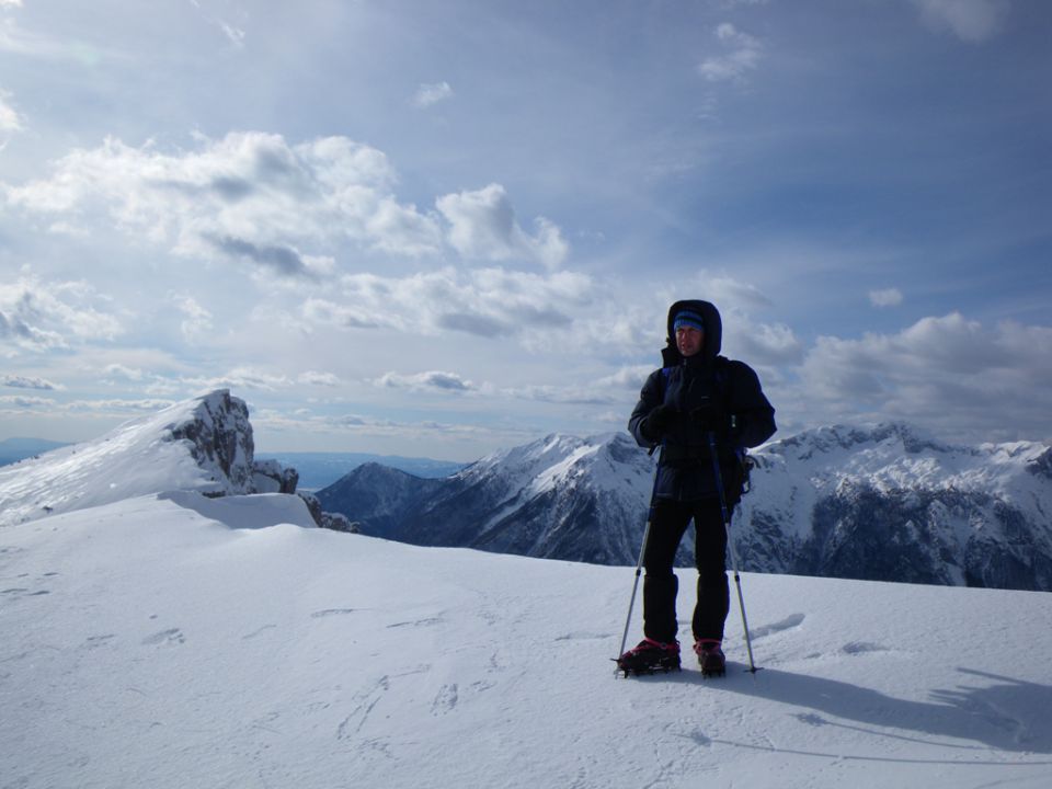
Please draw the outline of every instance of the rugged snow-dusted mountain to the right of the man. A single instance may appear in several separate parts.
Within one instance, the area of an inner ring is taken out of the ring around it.
[[[1052,448],[956,446],[912,425],[822,427],[754,453],[753,570],[1052,591]]]

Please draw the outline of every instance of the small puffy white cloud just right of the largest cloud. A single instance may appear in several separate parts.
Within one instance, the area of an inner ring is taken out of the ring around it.
[[[467,259],[526,260],[557,268],[567,258],[569,245],[559,228],[538,217],[535,233],[527,233],[500,184],[445,195],[436,206],[451,226],[449,243]]]

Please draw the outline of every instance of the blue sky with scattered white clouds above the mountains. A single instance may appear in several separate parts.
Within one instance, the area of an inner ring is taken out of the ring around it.
[[[622,430],[707,298],[781,436],[1052,439],[1041,0],[0,0],[0,438]]]

